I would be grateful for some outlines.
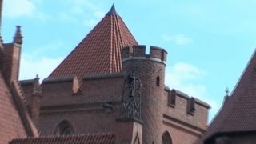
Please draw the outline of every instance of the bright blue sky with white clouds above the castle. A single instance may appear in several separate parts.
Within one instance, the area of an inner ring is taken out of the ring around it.
[[[46,78],[114,6],[139,44],[168,51],[166,85],[222,106],[256,46],[254,0],[5,0],[2,38],[22,26],[20,79]]]

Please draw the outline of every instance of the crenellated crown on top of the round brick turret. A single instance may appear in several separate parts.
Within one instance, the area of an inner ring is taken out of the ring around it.
[[[166,64],[167,51],[158,47],[150,46],[150,54],[146,54],[145,45],[126,46],[122,49],[122,62],[131,59],[149,59]]]

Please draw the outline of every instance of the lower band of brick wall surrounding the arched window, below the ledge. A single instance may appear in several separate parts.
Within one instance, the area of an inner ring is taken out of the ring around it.
[[[39,118],[39,129],[43,135],[54,134],[60,122],[67,120],[74,127],[74,134],[114,133],[119,116],[118,105],[113,113],[106,113],[102,104],[69,107],[56,110],[42,110]]]

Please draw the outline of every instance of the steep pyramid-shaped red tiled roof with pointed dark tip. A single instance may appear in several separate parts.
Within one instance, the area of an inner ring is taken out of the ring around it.
[[[122,71],[121,50],[138,44],[114,6],[49,77],[82,78]]]

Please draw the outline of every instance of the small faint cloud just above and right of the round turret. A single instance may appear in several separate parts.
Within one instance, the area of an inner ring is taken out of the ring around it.
[[[187,37],[185,34],[162,34],[162,39],[166,42],[174,42],[175,45],[188,45],[193,42],[193,38]]]

